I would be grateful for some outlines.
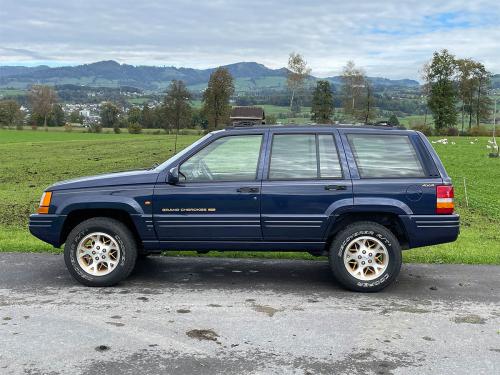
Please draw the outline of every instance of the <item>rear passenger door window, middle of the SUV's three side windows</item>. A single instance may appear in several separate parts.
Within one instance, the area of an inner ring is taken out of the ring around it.
[[[273,137],[269,179],[342,178],[332,134],[277,134]]]

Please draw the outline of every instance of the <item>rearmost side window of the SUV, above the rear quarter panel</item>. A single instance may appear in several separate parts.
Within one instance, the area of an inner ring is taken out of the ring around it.
[[[406,135],[348,134],[361,178],[425,177]]]

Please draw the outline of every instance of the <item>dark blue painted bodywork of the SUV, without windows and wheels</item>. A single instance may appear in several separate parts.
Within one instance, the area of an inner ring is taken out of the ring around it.
[[[342,178],[327,181],[268,178],[273,137],[301,133],[333,135]],[[426,177],[361,178],[347,138],[347,134],[356,133],[408,136],[426,170]],[[181,165],[209,143],[220,137],[247,134],[262,135],[255,181],[207,182],[197,186],[194,183],[167,183],[172,168]],[[87,218],[103,216],[124,222],[145,252],[171,249],[306,250],[321,254],[328,249],[335,233],[345,225],[371,220],[388,227],[396,234],[402,247],[409,249],[451,242],[457,238],[458,215],[435,213],[436,186],[442,184],[451,184],[451,180],[432,146],[419,132],[319,126],[232,129],[211,133],[194,147],[152,170],[55,184],[47,189],[53,192],[49,213],[31,215],[29,229],[36,237],[59,247],[76,224]],[[255,196],[258,197],[234,194],[242,186],[257,188],[259,192]],[[327,186],[340,188],[326,191]],[[181,193],[186,197],[182,198]],[[190,198],[190,194],[191,198],[197,194],[196,199],[201,199],[198,205],[205,205],[201,208],[208,209],[215,205],[218,211],[215,214],[183,212],[174,215],[164,212],[168,204],[174,204],[176,200],[182,204]],[[205,201],[199,198],[200,194]],[[249,206],[253,205],[250,199],[255,200],[254,206]],[[206,206],[209,201],[211,205]],[[234,213],[225,211],[234,204],[245,207],[248,212],[234,216]],[[185,222],[193,218],[198,224]]]

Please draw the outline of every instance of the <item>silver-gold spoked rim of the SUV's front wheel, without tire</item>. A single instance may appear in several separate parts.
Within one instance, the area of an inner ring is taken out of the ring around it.
[[[78,244],[80,267],[89,275],[105,276],[113,272],[120,261],[121,250],[109,234],[95,232],[85,236]]]

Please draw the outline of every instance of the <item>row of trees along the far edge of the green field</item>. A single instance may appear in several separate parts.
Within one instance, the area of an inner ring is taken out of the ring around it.
[[[338,92],[329,81],[311,81],[310,74],[311,69],[303,56],[291,53],[288,59],[288,92],[282,98],[286,100],[289,110],[287,116],[303,115],[300,108],[307,102],[311,107],[310,118],[314,122],[370,124],[389,114],[383,110],[381,103],[401,101],[385,97],[384,94],[375,94],[364,70],[353,61],[348,61],[342,69]],[[427,126],[428,111],[432,114],[436,131],[443,134],[458,132],[459,122],[464,131],[466,125],[470,130],[489,119],[492,106],[488,96],[491,74],[482,63],[457,58],[447,50],[438,51],[423,67],[423,79],[425,83],[421,87],[421,94],[424,100],[414,109],[425,113],[424,127]],[[234,92],[233,77],[226,68],[219,67],[210,75],[207,88],[201,96],[201,108],[193,107],[193,94],[185,83],[174,80],[169,84],[161,105],[155,108],[144,104],[142,108],[134,106],[127,112],[123,103],[103,103],[100,107],[101,121],[91,124],[90,130],[98,132],[102,127],[113,128],[117,133],[125,128],[131,133],[141,132],[143,128],[163,128],[167,132],[190,127],[214,130],[229,123],[230,101],[234,98]],[[237,104],[244,102],[238,97],[235,101]],[[66,121],[83,122],[77,111],[65,116],[58,104],[56,92],[49,86],[32,86],[28,102],[31,107],[28,123],[34,127],[61,126]],[[394,115],[397,111],[391,112],[388,122],[399,124]],[[23,120],[24,114],[16,101],[0,101],[0,126],[20,127]],[[268,123],[275,123],[277,118],[268,116],[267,120]]]

